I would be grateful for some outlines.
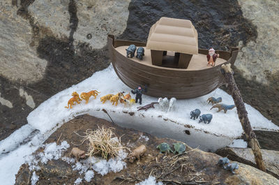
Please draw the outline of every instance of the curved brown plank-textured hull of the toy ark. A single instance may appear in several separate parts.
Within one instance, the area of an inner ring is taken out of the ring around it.
[[[167,98],[196,98],[209,94],[224,84],[224,77],[221,73],[221,65],[202,70],[185,71],[174,68],[157,68],[146,66],[133,61],[118,52],[115,48],[123,45],[134,44],[137,47],[144,47],[146,43],[114,40],[114,36],[108,36],[108,47],[114,71],[131,89],[138,85],[147,85],[147,95]],[[199,50],[201,54],[207,54],[208,50]],[[220,58],[226,60],[224,64],[234,65],[238,49],[232,52],[218,51]]]

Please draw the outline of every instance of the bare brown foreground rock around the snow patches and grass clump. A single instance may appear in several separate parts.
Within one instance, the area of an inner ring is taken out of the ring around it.
[[[105,121],[104,119],[97,119],[84,115],[77,117],[61,128],[57,129],[48,138],[45,143],[62,142],[66,140],[74,147],[73,143],[80,143],[82,137],[73,133],[74,131],[80,135],[86,129],[96,129],[98,126],[106,126],[115,128],[117,136],[121,136],[121,142],[126,146],[134,149],[138,145],[146,145],[146,154],[141,161],[135,163],[128,163],[127,168],[116,173],[109,173],[102,176],[95,172],[91,182],[82,180],[81,184],[135,184],[135,182],[147,179],[149,175],[156,177],[161,182],[188,182],[191,184],[278,184],[278,179],[266,174],[249,165],[239,163],[239,169],[235,170],[236,174],[223,170],[223,168],[216,165],[220,156],[199,149],[191,149],[186,147],[186,153],[181,155],[174,154],[160,154],[156,146],[161,142],[172,144],[175,140],[167,138],[158,139],[146,133],[139,133],[132,129],[120,128],[115,124]],[[67,155],[71,147],[65,152]],[[80,149],[86,150],[86,143],[79,146]],[[42,151],[38,149],[37,153]],[[173,163],[171,163],[173,162]],[[169,168],[167,168],[167,165]],[[46,164],[39,163],[40,170],[36,171],[39,177],[39,184],[74,184],[75,180],[82,175],[77,171],[73,171],[71,165],[62,161],[61,159],[48,161]],[[22,165],[20,168],[15,184],[27,184],[31,182],[31,175],[28,165]],[[174,168],[174,170],[171,170]]]

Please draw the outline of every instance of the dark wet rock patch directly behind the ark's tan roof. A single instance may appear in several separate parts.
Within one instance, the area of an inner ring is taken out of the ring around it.
[[[127,28],[121,39],[146,41],[150,27],[160,17],[188,19],[199,34],[199,47],[228,50],[257,38],[257,27],[243,17],[236,0],[135,1],[128,7]]]

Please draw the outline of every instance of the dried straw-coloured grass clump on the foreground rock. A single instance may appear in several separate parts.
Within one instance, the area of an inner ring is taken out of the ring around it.
[[[105,128],[105,126],[100,128],[98,126],[95,131],[91,129],[85,131],[82,142],[89,141],[89,149],[87,151],[89,156],[100,155],[107,160],[118,156],[118,151],[125,148],[121,145],[121,137],[117,138],[112,129],[114,128]]]

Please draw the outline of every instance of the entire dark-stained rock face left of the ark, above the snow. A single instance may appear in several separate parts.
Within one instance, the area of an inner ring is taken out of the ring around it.
[[[47,98],[110,64],[107,33],[126,28],[129,3],[0,2],[0,140]]]

